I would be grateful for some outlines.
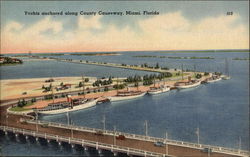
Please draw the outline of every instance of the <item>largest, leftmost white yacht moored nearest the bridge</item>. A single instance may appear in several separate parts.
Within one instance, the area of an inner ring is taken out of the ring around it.
[[[96,105],[97,99],[74,99],[72,101],[61,101],[50,103],[44,108],[35,109],[39,114],[60,114],[76,110],[90,108]]]

